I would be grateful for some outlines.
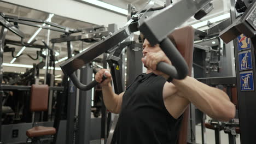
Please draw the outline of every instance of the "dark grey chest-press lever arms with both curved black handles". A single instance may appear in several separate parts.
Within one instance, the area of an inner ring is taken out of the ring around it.
[[[160,62],[157,69],[165,74],[170,75],[173,79],[184,79],[188,74],[188,66],[185,63],[183,57],[178,52],[176,47],[167,38],[176,27],[182,25],[183,22],[188,20],[191,16],[199,20],[206,14],[210,13],[213,9],[212,0],[203,1],[179,1],[176,4],[169,5],[163,9],[160,13],[149,17],[146,19],[141,26],[139,26],[139,31],[141,31],[144,36],[149,40],[152,45],[160,44],[161,49],[165,52],[166,56],[172,61],[173,65],[168,65],[167,63]],[[150,4],[151,2],[149,2]],[[185,13],[182,13],[177,18],[176,12],[184,9]],[[141,10],[142,11],[142,10]],[[138,11],[136,15],[140,14]],[[170,21],[170,19],[175,19],[175,21]],[[81,83],[77,76],[75,76],[74,71],[83,67],[86,63],[89,63],[92,59],[111,49],[115,45],[118,45],[121,41],[129,37],[131,31],[129,26],[134,24],[133,19],[129,20],[126,25],[119,31],[115,32],[113,35],[109,35],[105,39],[95,43],[90,46],[84,52],[69,58],[66,62],[63,62],[60,67],[66,75],[70,77],[74,85],[83,90],[88,91],[95,85],[96,81],[92,81],[88,85]],[[157,25],[155,25],[157,24]]]

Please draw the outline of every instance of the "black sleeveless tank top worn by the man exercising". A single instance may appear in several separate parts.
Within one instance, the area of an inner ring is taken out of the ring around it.
[[[126,88],[117,126],[118,144],[174,144],[182,117],[173,118],[162,98],[166,80],[141,74]]]

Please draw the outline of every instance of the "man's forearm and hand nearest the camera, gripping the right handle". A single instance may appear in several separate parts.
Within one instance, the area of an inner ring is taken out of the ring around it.
[[[142,58],[142,61],[154,74],[162,75],[168,79],[168,75],[156,70],[156,65],[159,62],[171,64],[164,52],[147,53],[147,59]],[[220,89],[207,86],[189,76],[183,80],[173,79],[172,83],[178,88],[177,95],[188,99],[208,116],[220,121],[229,121],[235,117],[235,105],[231,103],[228,95]]]

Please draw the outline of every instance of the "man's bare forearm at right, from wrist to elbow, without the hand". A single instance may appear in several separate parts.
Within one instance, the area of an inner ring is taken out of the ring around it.
[[[172,83],[179,89],[178,95],[187,98],[210,117],[223,121],[234,117],[235,106],[220,89],[207,86],[189,76],[184,80],[173,80]]]

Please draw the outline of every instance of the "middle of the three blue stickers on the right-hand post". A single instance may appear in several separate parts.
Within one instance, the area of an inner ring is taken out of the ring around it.
[[[252,69],[252,52],[243,51],[238,53],[239,70]]]

